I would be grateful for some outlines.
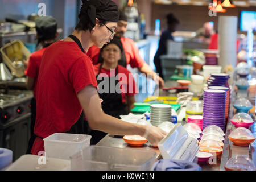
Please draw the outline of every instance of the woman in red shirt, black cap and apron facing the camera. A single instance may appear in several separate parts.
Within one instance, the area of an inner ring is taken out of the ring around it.
[[[113,38],[110,43],[101,49],[103,63],[94,65],[94,71],[98,82],[98,94],[103,100],[102,110],[104,113],[112,115],[115,118],[121,118],[120,115],[127,115],[134,107],[134,95],[138,93],[133,74],[125,67],[118,65],[122,55],[122,45]],[[111,85],[113,84],[113,86]],[[111,92],[112,88],[116,88]],[[105,93],[104,90],[108,90]],[[91,143],[97,144],[106,133],[92,130]]]

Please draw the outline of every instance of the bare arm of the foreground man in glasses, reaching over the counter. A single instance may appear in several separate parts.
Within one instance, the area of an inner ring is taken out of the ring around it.
[[[92,85],[86,86],[77,93],[82,109],[91,129],[104,131],[115,135],[141,135],[147,134],[151,144],[157,144],[163,139],[164,131],[158,127],[147,127],[121,121],[101,111],[97,89]]]

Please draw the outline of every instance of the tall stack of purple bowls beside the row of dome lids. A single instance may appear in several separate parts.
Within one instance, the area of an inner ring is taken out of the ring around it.
[[[224,90],[204,90],[203,129],[217,125],[225,131],[226,92]]]

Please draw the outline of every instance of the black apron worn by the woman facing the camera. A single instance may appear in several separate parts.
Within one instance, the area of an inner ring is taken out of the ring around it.
[[[104,111],[104,113],[111,115],[115,118],[119,118],[120,119],[120,115],[127,115],[129,114],[129,109],[127,104],[122,102],[122,94],[121,91],[118,90],[118,93],[115,90],[115,93],[111,93],[110,92],[110,88],[111,88],[111,81],[115,83],[115,88],[117,88],[117,84],[118,84],[118,80],[115,80],[115,77],[117,76],[118,73],[118,66],[115,70],[115,76],[114,77],[104,77],[102,80],[98,80],[98,75],[101,72],[101,67],[102,64],[100,65],[98,74],[96,75],[97,78],[97,82],[98,85],[104,81],[105,79],[109,79],[109,92],[108,93],[98,93],[98,95],[100,96],[100,98],[102,98],[103,102],[101,104],[102,106],[102,110]],[[104,88],[102,88],[104,89]],[[118,88],[120,89],[120,88]],[[100,140],[102,138],[104,138],[106,136],[107,133],[102,132],[102,131],[98,131],[98,130],[91,130],[90,135],[92,135],[92,139],[91,139],[91,143],[92,145],[97,144],[98,142],[100,142]]]

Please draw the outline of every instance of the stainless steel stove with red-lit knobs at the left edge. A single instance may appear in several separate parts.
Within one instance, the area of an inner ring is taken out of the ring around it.
[[[15,160],[27,151],[33,94],[26,90],[0,91],[0,148],[12,150]]]

